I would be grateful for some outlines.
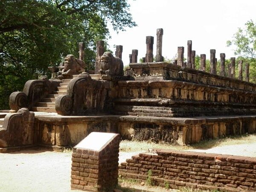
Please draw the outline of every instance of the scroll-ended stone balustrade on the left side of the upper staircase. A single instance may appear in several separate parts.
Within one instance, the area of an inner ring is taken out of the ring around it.
[[[37,102],[58,87],[60,81],[48,80],[43,76],[40,80],[26,81],[23,92],[13,92],[9,97],[11,110],[18,111],[21,108],[31,109]]]

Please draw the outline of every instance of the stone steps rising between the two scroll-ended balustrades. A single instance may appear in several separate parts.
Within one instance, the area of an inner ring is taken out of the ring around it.
[[[76,78],[78,75],[73,75],[73,78]],[[98,74],[90,75],[92,79],[100,79],[101,76]],[[47,95],[47,97],[43,98],[40,102],[38,102],[34,107],[32,107],[32,111],[35,112],[47,112],[47,113],[56,113],[55,110],[55,100],[60,95],[67,94],[67,85],[71,79],[63,79],[60,86],[57,87],[57,90],[53,92],[53,94]]]

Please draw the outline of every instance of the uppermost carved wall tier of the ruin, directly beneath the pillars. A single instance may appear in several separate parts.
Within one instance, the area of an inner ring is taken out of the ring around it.
[[[166,62],[132,63],[129,66],[131,68],[131,76],[135,80],[177,80],[216,87],[256,91],[256,84],[253,83]]]

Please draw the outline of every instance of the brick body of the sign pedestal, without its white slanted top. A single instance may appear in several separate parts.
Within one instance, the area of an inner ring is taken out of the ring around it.
[[[72,153],[71,189],[105,191],[118,182],[120,136],[107,143],[101,151],[74,148]]]

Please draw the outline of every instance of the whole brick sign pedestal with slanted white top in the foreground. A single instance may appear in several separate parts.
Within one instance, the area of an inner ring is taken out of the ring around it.
[[[77,144],[72,153],[71,190],[113,191],[118,183],[119,143],[119,134],[92,132]]]

